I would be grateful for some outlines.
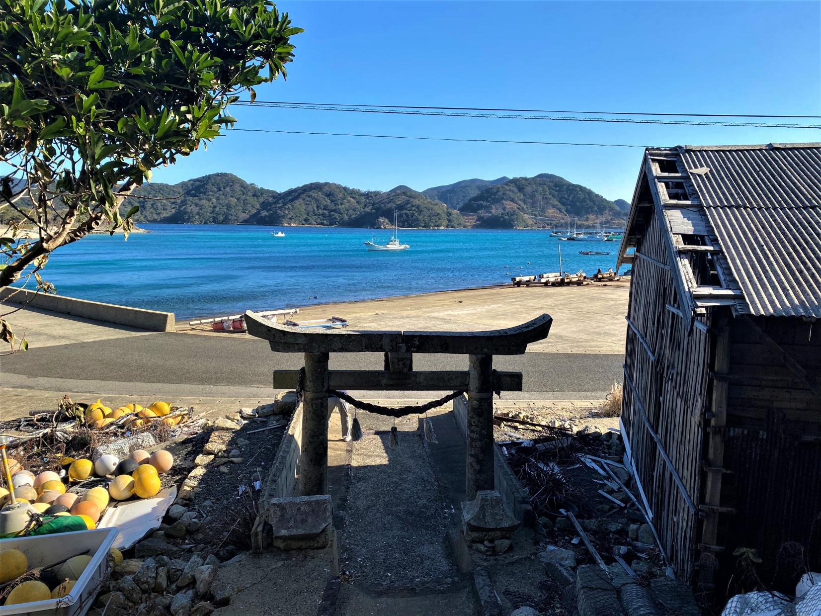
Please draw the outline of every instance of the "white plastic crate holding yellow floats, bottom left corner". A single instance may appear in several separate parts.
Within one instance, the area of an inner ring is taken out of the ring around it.
[[[19,549],[29,560],[29,569],[48,567],[58,560],[81,554],[86,549],[91,562],[71,592],[60,599],[0,606],[0,616],[83,616],[97,596],[108,570],[108,553],[117,536],[116,528],[63,532],[57,535],[14,537],[0,540],[0,549]]]

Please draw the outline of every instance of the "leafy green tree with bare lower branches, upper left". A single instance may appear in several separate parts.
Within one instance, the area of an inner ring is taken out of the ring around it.
[[[122,200],[284,78],[301,31],[267,0],[0,0],[0,287],[53,290],[49,253],[127,233]]]

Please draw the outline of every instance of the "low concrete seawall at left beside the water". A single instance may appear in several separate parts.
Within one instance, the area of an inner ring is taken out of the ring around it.
[[[5,287],[0,289],[0,301],[23,304],[32,308],[52,310],[63,315],[80,316],[84,319],[128,325],[153,332],[174,331],[174,314],[158,310],[144,310],[131,306],[103,304],[99,301],[80,300],[76,297],[35,293],[28,289]]]

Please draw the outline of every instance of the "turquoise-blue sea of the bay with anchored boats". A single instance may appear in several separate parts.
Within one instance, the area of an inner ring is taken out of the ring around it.
[[[167,310],[178,319],[510,283],[563,267],[616,264],[618,242],[558,241],[546,230],[400,230],[410,249],[369,252],[358,228],[142,224],[57,249],[44,278],[61,295]],[[282,231],[286,237],[272,237]],[[609,256],[579,255],[581,250]],[[507,267],[505,267],[507,266]]]

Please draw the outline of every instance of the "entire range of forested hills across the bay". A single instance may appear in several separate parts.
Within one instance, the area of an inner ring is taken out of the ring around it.
[[[446,205],[460,202],[459,209],[478,214],[476,226],[484,228],[549,227],[557,219],[572,218],[579,223],[621,223],[621,208],[625,207],[621,204],[626,204],[608,201],[585,186],[549,173],[512,180],[464,180],[424,193],[404,185],[383,192],[331,182],[313,182],[277,193],[232,173],[213,173],[174,185],[145,184],[135,195],[150,197],[126,199],[126,209],[140,205],[137,222],[329,227],[388,226],[394,211],[400,227],[465,227],[461,213]]]

